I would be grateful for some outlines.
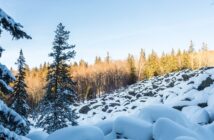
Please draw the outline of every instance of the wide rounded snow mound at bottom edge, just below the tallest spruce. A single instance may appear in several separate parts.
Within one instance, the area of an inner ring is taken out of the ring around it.
[[[102,130],[95,126],[76,126],[57,130],[47,140],[103,140]]]

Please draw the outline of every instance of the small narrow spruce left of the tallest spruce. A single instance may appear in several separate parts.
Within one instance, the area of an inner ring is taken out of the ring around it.
[[[26,64],[22,50],[20,50],[19,58],[16,64],[18,65],[18,74],[13,87],[14,92],[11,108],[22,115],[24,118],[27,118],[30,111],[30,106],[28,104],[28,94],[26,91],[27,85],[25,83]]]

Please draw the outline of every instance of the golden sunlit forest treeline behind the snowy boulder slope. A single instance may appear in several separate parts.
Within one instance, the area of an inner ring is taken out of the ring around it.
[[[112,60],[107,53],[105,58],[97,56],[93,64],[84,60],[74,62],[70,64],[69,72],[76,83],[79,100],[84,101],[153,76],[212,66],[213,54],[206,43],[196,51],[191,41],[187,50],[172,49],[170,53],[160,56],[154,50],[145,54],[142,49],[138,58],[129,54],[126,60]],[[48,63],[44,63],[39,68],[26,69],[27,92],[32,107],[44,95],[48,66]]]

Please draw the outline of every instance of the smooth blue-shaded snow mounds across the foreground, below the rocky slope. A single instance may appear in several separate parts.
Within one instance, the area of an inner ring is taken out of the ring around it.
[[[183,112],[188,110],[194,113],[202,109],[190,106]],[[181,111],[159,104],[146,106],[129,117],[120,116],[91,126],[67,127],[49,136],[33,132],[27,137],[31,140],[213,140],[214,123],[199,125]]]

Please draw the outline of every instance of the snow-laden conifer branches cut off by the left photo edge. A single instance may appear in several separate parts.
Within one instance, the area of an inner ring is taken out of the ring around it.
[[[15,39],[30,39],[31,37],[21,30],[22,27],[21,24],[15,22],[13,18],[0,9],[0,34],[2,29],[5,29],[6,31],[9,31]],[[3,50],[4,49],[0,47],[0,56],[2,55]],[[9,86],[9,83],[14,80],[15,77],[8,68],[0,63],[0,92],[3,94],[12,93],[13,89]],[[26,120],[0,100],[0,139],[19,139],[19,137],[11,131],[25,135],[26,127]]]

